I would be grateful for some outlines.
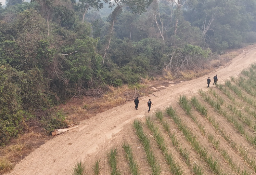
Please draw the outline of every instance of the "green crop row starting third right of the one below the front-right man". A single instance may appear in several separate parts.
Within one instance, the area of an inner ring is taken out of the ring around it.
[[[186,111],[187,115],[197,124],[197,126],[199,127],[199,129],[202,132],[202,134],[207,137],[208,141],[210,143],[212,143],[212,145],[215,147],[215,149],[228,162],[228,164],[230,165],[231,169],[234,172],[236,172],[238,174],[241,174],[242,171],[240,171],[240,165],[236,164],[233,161],[233,159],[231,158],[231,156],[228,153],[228,150],[219,147],[220,139],[216,139],[215,136],[212,133],[207,132],[205,130],[205,127],[197,120],[197,117],[192,112],[192,106],[190,105],[187,97],[185,95],[180,96],[179,102],[180,102],[181,107]],[[244,171],[243,172],[246,172],[245,167],[244,167]]]

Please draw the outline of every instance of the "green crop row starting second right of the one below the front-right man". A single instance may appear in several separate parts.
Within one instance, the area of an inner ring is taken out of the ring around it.
[[[195,151],[200,155],[200,157],[202,157],[206,161],[210,170],[212,170],[215,174],[225,174],[223,169],[220,167],[218,160],[216,160],[211,154],[209,154],[208,150],[203,147],[199,141],[197,141],[197,138],[188,129],[188,127],[183,124],[182,120],[171,106],[166,108],[166,113],[178,125],[179,130],[181,130],[181,132],[190,142]]]

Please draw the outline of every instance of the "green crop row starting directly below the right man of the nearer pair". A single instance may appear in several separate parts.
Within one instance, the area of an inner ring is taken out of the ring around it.
[[[168,151],[167,145],[165,144],[164,136],[159,133],[159,128],[155,126],[150,117],[146,118],[146,125],[148,126],[149,130],[153,133],[153,136],[156,140],[156,143],[158,144],[158,147],[163,152],[165,160],[169,165],[170,172],[177,175],[183,174],[184,170],[182,166],[175,162],[173,155]]]

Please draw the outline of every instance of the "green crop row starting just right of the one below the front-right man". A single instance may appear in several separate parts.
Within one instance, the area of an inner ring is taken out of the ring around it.
[[[157,110],[155,112],[155,117],[159,120],[159,122],[162,124],[164,130],[167,132],[168,136],[171,139],[172,144],[174,145],[175,149],[179,151],[180,155],[183,157],[185,160],[186,164],[190,167],[192,172],[196,175],[202,175],[204,174],[203,172],[203,167],[200,164],[193,163],[191,165],[191,159],[190,158],[190,152],[187,148],[183,148],[182,145],[180,144],[180,141],[177,139],[177,136],[174,132],[171,132],[170,130],[170,125],[163,119],[163,112],[161,110]]]

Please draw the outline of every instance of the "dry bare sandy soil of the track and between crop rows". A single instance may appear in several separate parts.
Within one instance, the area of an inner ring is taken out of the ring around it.
[[[204,98],[197,92],[199,89],[202,89],[212,99],[215,99],[207,89],[206,80],[210,77],[212,79],[210,86],[212,86],[212,89],[225,100],[226,104],[222,105],[222,108],[226,108],[226,106],[228,106],[227,104],[231,104],[232,102],[219,88],[215,85],[213,86],[213,77],[217,74],[219,83],[225,83],[227,79],[230,79],[230,76],[239,76],[242,69],[248,68],[249,65],[255,61],[256,48],[253,48],[242,52],[239,56],[235,57],[231,60],[229,66],[224,68],[220,67],[216,71],[209,73],[207,76],[178,84],[171,85],[170,83],[166,89],[155,92],[155,96],[150,95],[139,98],[140,104],[138,110],[134,110],[135,105],[133,102],[129,102],[99,113],[95,117],[82,121],[77,129],[48,140],[45,144],[31,152],[25,159],[21,160],[14,169],[7,174],[71,174],[74,164],[80,160],[86,165],[86,174],[93,174],[92,166],[97,159],[101,159],[100,165],[102,169],[100,174],[110,174],[111,168],[107,162],[106,152],[111,148],[117,148],[117,166],[119,167],[121,174],[131,174],[129,164],[125,158],[125,151],[122,148],[122,143],[124,141],[131,145],[134,158],[139,165],[141,174],[152,174],[152,169],[147,162],[143,145],[136,135],[135,128],[132,125],[135,119],[141,121],[144,133],[150,139],[151,150],[154,152],[158,163],[161,165],[161,174],[173,174],[169,170],[168,163],[165,160],[164,154],[159,149],[153,137],[153,133],[145,124],[145,119],[149,115],[152,116],[152,121],[155,125],[159,126],[159,132],[165,137],[168,151],[172,153],[175,162],[184,170],[183,174],[193,174],[194,164],[200,165],[204,174],[214,174],[214,170],[210,167],[207,161],[197,153],[193,144],[186,139],[174,120],[165,114],[164,120],[170,125],[171,132],[176,134],[177,139],[180,140],[182,148],[186,148],[190,152],[190,163],[186,163],[179,152],[179,149],[175,148],[172,144],[167,132],[164,131],[162,125],[154,116],[154,112],[157,109],[165,111],[168,106],[172,106],[172,108],[176,109],[177,115],[182,120],[184,126],[186,126],[191,133],[196,136],[200,144],[208,150],[208,155],[212,155],[213,159],[218,161],[219,168],[223,170],[222,173],[242,174],[242,171],[245,170],[249,174],[255,174],[253,163],[246,161],[241,150],[239,151],[239,146],[241,145],[244,150],[248,151],[247,155],[254,158],[256,156],[255,144],[246,139],[246,137],[236,129],[232,122],[228,121],[223,115],[210,106],[210,104],[206,103]],[[207,107],[208,114],[214,116],[216,122],[219,123],[219,128],[223,128],[226,135],[229,135],[230,138],[225,140],[223,135],[219,132],[220,130],[216,129],[206,117],[196,110],[195,107],[192,107],[193,115],[197,117],[199,123],[204,125],[205,132],[203,133],[179,104],[179,97],[181,95],[186,95],[189,100],[192,96],[196,96],[200,103]],[[233,91],[232,95],[239,99]],[[148,108],[146,107],[149,98],[151,98],[153,103],[150,113],[148,113]],[[215,100],[217,101],[218,99],[216,98]],[[246,103],[242,99],[239,100],[241,101],[239,101],[240,104],[242,103],[246,106]],[[251,109],[254,108],[254,106],[251,107]],[[229,111],[229,113],[232,114],[231,111]],[[235,114],[232,116],[235,116]],[[252,115],[248,115],[248,117],[252,118],[252,122],[255,123],[255,119]],[[254,129],[245,125],[241,118],[238,117],[237,120],[242,123],[245,132],[252,137],[255,135]],[[209,141],[209,133],[214,135],[214,139],[219,139],[219,145],[217,147]],[[232,147],[232,142],[230,140],[234,140],[237,145]],[[227,157],[223,156],[223,150],[226,150],[232,161],[228,161]],[[232,162],[234,166],[232,166]],[[234,168],[236,165],[240,166],[240,170]]]

